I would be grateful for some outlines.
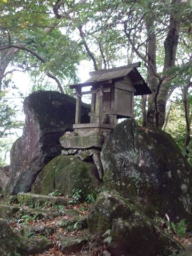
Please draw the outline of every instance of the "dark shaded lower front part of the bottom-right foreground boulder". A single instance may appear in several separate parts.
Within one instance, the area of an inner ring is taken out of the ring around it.
[[[114,219],[108,251],[114,256],[170,256],[182,247],[138,212],[126,220]]]

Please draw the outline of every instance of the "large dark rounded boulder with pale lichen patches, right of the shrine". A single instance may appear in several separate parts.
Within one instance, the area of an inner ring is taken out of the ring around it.
[[[117,125],[101,151],[103,183],[129,198],[147,215],[157,211],[192,227],[192,172],[169,134],[138,126],[134,119]]]

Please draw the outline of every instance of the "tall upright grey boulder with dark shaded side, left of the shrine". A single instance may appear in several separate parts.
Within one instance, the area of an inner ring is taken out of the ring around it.
[[[6,194],[28,192],[37,174],[61,153],[59,138],[75,123],[75,99],[52,91],[30,94],[22,137],[11,149],[10,182]],[[82,104],[82,123],[89,122],[89,106]]]

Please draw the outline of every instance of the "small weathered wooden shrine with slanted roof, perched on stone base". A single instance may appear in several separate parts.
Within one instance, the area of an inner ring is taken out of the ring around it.
[[[106,132],[114,129],[118,118],[133,117],[134,95],[151,91],[139,74],[140,62],[131,65],[90,72],[90,78],[82,84],[70,85],[77,93],[74,132],[78,135]],[[91,86],[90,91],[82,87]],[[81,124],[81,97],[91,94],[90,123]]]

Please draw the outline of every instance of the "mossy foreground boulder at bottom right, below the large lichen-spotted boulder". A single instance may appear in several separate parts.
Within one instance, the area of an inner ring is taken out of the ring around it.
[[[90,233],[103,237],[113,256],[168,256],[182,250],[152,219],[115,191],[99,195],[87,221]]]

